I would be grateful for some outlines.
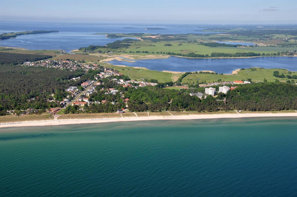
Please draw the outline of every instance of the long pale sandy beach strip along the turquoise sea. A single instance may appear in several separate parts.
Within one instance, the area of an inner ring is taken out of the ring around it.
[[[87,118],[87,119],[54,119],[54,120],[36,120],[36,121],[0,123],[0,128],[87,124],[87,123],[110,123],[110,122],[124,122],[124,121],[143,121],[143,120],[195,120],[195,119],[248,118],[248,117],[296,117],[297,118],[297,113],[236,113],[236,114],[205,114],[205,115],[177,115],[177,116],[169,115],[169,116],[146,116],[146,117]]]

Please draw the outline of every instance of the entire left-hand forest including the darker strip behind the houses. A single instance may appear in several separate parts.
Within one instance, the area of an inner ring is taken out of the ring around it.
[[[29,108],[45,110],[48,107],[57,107],[56,102],[48,102],[55,94],[56,101],[62,101],[67,96],[65,89],[68,86],[78,86],[86,80],[94,80],[94,76],[103,71],[83,69],[76,71],[45,68],[41,66],[14,65],[20,61],[38,61],[50,58],[48,55],[32,55],[20,53],[0,53],[0,115],[7,110],[26,110]],[[70,80],[80,77],[75,81]],[[58,102],[59,103],[59,102]],[[40,111],[41,112],[41,111]]]

